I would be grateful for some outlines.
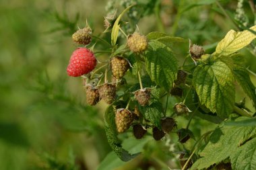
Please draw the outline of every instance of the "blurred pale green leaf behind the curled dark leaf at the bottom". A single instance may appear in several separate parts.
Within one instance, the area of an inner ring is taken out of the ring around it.
[[[143,146],[148,142],[152,140],[152,138],[142,138],[141,140],[136,140],[135,138],[128,138],[127,140],[123,141],[123,146],[131,151],[131,153],[137,153],[138,151],[143,150]],[[115,169],[117,167],[121,167],[122,165],[125,165],[125,162],[121,161],[119,157],[115,154],[114,151],[108,153],[106,155],[105,159],[100,163],[98,166],[98,170],[109,170],[109,169]]]

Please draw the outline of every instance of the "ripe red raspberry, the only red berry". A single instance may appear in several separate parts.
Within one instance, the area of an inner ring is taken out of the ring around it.
[[[90,73],[97,64],[94,53],[87,48],[77,48],[70,57],[67,74],[78,77]]]

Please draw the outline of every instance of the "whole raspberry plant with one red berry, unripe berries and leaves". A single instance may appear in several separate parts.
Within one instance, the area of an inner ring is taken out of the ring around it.
[[[195,140],[191,148],[177,151],[182,169],[256,169],[255,118],[245,105],[234,100],[234,83],[238,83],[256,105],[255,86],[238,52],[256,38],[256,26],[241,32],[230,30],[215,52],[205,54],[202,46],[164,32],[143,35],[133,28],[135,32],[127,34],[127,23],[122,18],[133,7],[127,7],[118,17],[117,11],[105,17],[104,34],[110,32],[107,40],[94,36],[90,27],[77,30],[73,34],[75,42],[88,45],[91,38],[97,38],[108,47],[102,52],[96,51],[97,44],[89,44],[90,50],[80,47],[67,67],[68,75],[82,75],[89,105],[100,100],[108,105],[104,123],[113,151],[122,161],[130,161],[139,153],[130,154],[123,148],[122,140],[134,138],[129,133],[138,140],[145,136],[161,140],[174,133],[179,140],[173,143]],[[175,54],[178,42],[188,46],[189,55],[183,65]],[[97,59],[94,69],[93,53],[98,57],[104,52],[108,60]],[[186,63],[188,58],[193,62]],[[170,99],[179,102],[170,105]],[[180,116],[189,116],[189,122],[178,129]],[[189,129],[194,116],[220,124],[195,138]]]

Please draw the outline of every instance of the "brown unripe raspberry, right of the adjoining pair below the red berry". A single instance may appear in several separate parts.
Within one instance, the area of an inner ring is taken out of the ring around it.
[[[112,84],[104,84],[99,88],[100,98],[106,103],[113,103],[116,97],[116,86]]]

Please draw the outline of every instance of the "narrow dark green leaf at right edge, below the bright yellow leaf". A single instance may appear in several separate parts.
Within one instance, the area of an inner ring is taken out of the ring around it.
[[[256,93],[255,86],[251,82],[248,71],[244,67],[240,67],[238,65],[234,65],[234,78],[241,85],[245,93],[250,97],[253,101],[254,107],[256,107]]]

